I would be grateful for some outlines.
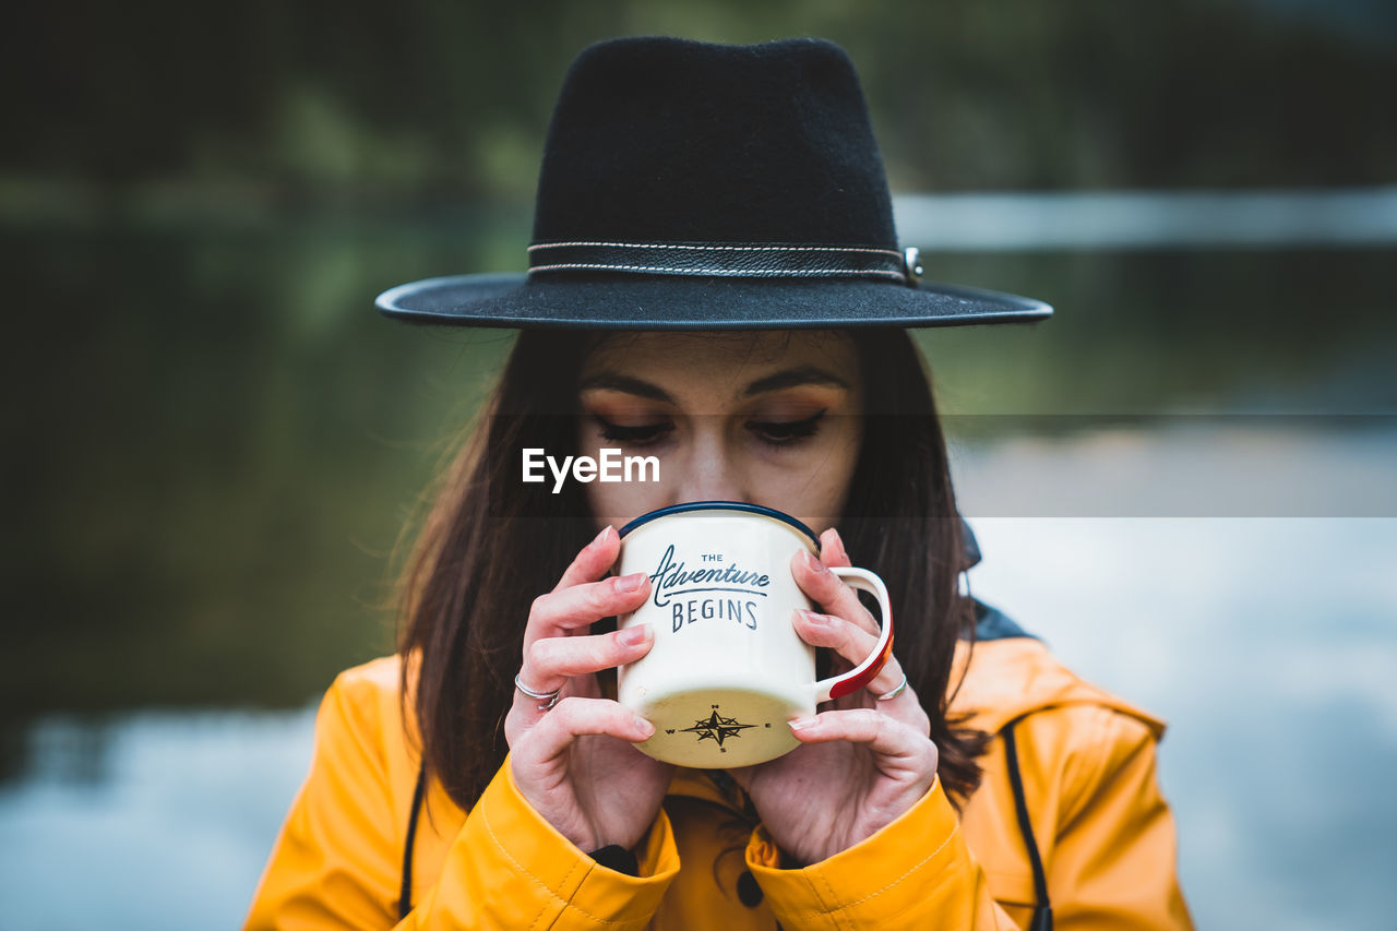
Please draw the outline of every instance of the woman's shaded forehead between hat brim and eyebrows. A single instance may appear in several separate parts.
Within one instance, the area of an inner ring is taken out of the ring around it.
[[[858,387],[854,340],[837,330],[753,330],[711,333],[616,333],[583,363],[583,379],[624,375],[655,384],[704,382],[740,390],[792,368],[816,368]]]

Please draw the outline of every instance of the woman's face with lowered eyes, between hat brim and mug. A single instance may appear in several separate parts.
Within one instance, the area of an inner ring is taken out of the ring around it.
[[[624,333],[583,366],[578,447],[654,456],[655,482],[585,485],[597,527],[692,500],[844,510],[863,431],[854,341],[835,331]]]

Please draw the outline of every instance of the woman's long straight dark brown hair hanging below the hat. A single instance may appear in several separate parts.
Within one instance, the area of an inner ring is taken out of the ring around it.
[[[849,330],[863,372],[863,446],[838,524],[856,565],[879,573],[895,654],[932,720],[953,801],[979,783],[988,738],[947,720],[958,637],[974,637],[946,443],[921,354],[905,330]],[[577,482],[520,481],[520,450],[577,454],[577,382],[606,333],[522,331],[469,439],[441,472],[400,579],[404,716],[429,773],[469,809],[504,760],[529,605],[595,535]],[[556,452],[555,452],[556,450]],[[958,688],[957,682],[957,688]]]

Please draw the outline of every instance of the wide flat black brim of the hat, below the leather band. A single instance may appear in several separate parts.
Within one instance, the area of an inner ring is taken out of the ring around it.
[[[390,288],[374,302],[412,323],[566,330],[788,330],[1031,323],[1042,301],[922,281],[690,275],[451,275]]]

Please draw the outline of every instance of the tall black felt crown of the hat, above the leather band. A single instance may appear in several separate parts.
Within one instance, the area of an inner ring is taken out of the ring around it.
[[[895,249],[852,63],[820,39],[587,48],[553,110],[534,242]]]

